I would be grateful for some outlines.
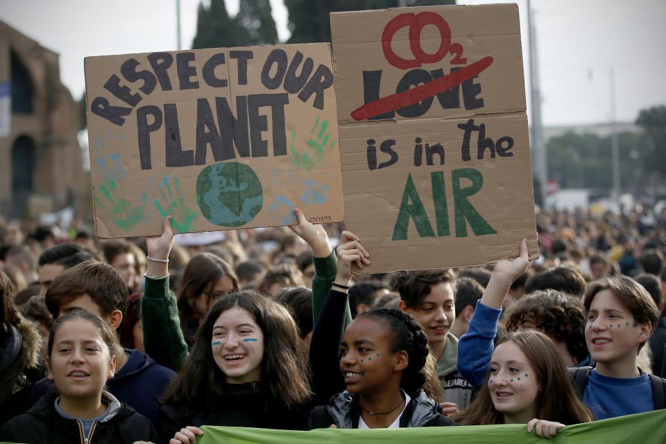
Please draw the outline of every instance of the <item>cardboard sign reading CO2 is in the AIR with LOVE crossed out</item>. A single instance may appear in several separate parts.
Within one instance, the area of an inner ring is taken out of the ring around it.
[[[379,273],[538,257],[518,6],[331,15],[345,221]]]

